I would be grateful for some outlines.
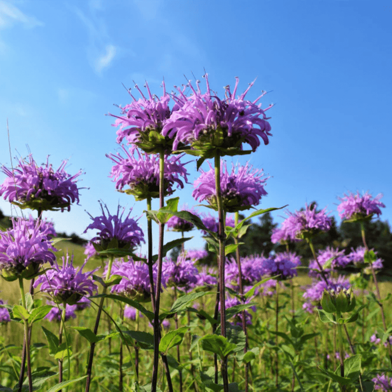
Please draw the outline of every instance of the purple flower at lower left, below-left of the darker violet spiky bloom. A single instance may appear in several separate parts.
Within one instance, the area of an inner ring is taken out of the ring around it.
[[[34,287],[41,285],[41,291],[49,293],[54,302],[67,303],[74,305],[83,296],[91,296],[94,292],[98,292],[97,285],[92,281],[91,275],[98,270],[83,273],[83,267],[87,260],[83,263],[80,269],[73,267],[73,256],[63,256],[63,266],[54,264],[54,269],[40,275],[35,281]]]

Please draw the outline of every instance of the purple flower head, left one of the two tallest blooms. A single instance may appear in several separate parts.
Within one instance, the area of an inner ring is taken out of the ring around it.
[[[163,85],[163,96],[158,98],[150,92],[146,82],[148,98],[146,98],[138,85],[135,88],[139,91],[142,98],[136,99],[128,90],[133,102],[119,106],[121,116],[109,113],[117,120],[113,126],[120,126],[117,131],[117,143],[121,143],[126,138],[128,144],[142,148],[147,153],[159,152],[164,149],[167,153],[172,150],[173,141],[171,138],[162,136],[162,128],[170,118],[172,111],[169,108],[170,96],[166,93],[165,82]],[[173,110],[178,105],[173,107]]]

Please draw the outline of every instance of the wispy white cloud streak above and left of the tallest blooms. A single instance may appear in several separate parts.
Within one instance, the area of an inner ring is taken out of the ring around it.
[[[88,61],[97,74],[101,74],[112,64],[117,48],[113,45],[106,33],[106,26],[102,19],[97,17],[97,12],[103,11],[101,0],[90,0],[89,13],[87,17],[80,8],[75,7],[75,14],[87,28],[89,45],[87,48]]]

